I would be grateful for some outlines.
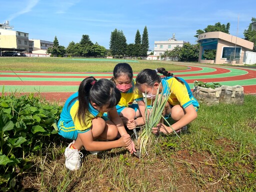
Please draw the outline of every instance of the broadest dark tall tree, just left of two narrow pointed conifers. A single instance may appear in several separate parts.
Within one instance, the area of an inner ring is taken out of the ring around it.
[[[120,55],[124,55],[126,52],[126,38],[122,32],[122,30],[117,30],[116,28],[111,32],[110,36],[110,42],[109,42],[109,49],[115,57],[115,55],[118,55],[118,58]]]

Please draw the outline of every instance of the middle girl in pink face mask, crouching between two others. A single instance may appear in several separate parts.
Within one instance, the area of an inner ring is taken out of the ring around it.
[[[132,68],[128,63],[118,63],[110,79],[121,92],[121,99],[116,105],[117,113],[128,129],[144,124],[145,103],[142,93],[135,88]],[[136,103],[134,103],[136,101]]]

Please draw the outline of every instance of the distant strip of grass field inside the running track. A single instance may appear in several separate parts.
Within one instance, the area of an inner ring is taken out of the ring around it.
[[[56,72],[112,72],[119,62],[127,62],[133,72],[144,68],[165,67],[166,70],[183,70],[187,67],[172,65],[169,63],[159,64],[159,61],[150,60],[127,60],[127,59],[88,59],[84,58],[61,58],[61,57],[0,57],[0,70],[13,71],[56,71]]]

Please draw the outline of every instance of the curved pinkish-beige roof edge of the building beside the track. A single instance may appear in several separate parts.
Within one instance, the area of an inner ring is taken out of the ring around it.
[[[221,31],[204,32],[202,34],[199,34],[197,37],[197,42],[200,43],[205,41],[206,39],[213,39],[213,38],[222,39],[222,40],[234,43],[237,46],[253,49],[253,42],[239,38],[231,34],[227,34],[225,32],[221,32]]]

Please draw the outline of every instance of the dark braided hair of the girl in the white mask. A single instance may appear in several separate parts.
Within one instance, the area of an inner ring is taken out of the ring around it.
[[[140,87],[141,84],[146,84],[148,86],[153,86],[153,84],[155,82],[160,83],[161,82],[161,77],[160,75],[157,74],[157,72],[162,73],[164,76],[173,76],[172,73],[166,71],[164,68],[160,67],[157,69],[143,69],[141,70],[138,75],[136,76],[136,87]],[[176,76],[173,76],[174,78],[176,78],[180,83],[184,84],[179,78],[177,78]]]

